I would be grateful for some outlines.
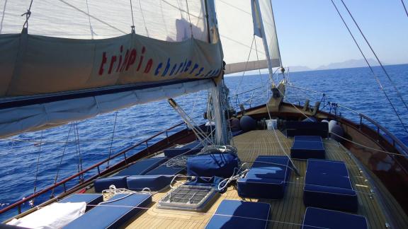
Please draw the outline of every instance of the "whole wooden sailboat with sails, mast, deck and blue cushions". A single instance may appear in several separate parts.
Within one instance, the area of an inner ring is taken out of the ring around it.
[[[270,0],[8,0],[0,25],[1,138],[164,99],[183,119],[0,209],[17,213],[1,227],[408,226],[407,146],[365,114],[339,115],[342,105],[285,100],[301,87],[288,81]],[[235,110],[224,76],[258,69],[268,100]],[[205,124],[177,102],[200,90]]]

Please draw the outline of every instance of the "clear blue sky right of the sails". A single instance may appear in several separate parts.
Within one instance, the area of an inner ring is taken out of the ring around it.
[[[408,0],[404,0],[408,6]],[[380,60],[408,63],[408,17],[400,0],[344,0]],[[330,0],[272,0],[284,66],[316,68],[332,62],[362,59]],[[335,0],[357,40],[363,37]],[[361,45],[373,58],[366,45]]]

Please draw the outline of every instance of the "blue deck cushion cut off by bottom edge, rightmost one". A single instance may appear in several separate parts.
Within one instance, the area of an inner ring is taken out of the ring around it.
[[[367,229],[368,224],[364,216],[309,207],[306,209],[302,229],[315,228]]]

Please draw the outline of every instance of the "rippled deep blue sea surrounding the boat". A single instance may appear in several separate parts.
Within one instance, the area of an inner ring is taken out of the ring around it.
[[[408,64],[385,67],[399,93],[408,102]],[[401,114],[403,121],[408,125],[408,110],[397,97],[392,84],[379,67],[375,67],[375,72],[380,77],[382,86],[392,98],[392,102]],[[227,77],[225,82],[230,89],[230,95],[242,93],[237,98],[231,99],[232,105],[236,107],[237,103],[244,102],[245,106],[249,107],[265,103],[268,95],[266,90],[267,78],[266,75]],[[288,78],[295,86],[323,92],[327,95],[327,100],[338,102],[367,114],[387,127],[404,143],[408,143],[407,133],[402,128],[368,68],[295,72],[289,73]],[[244,93],[252,88],[259,89],[254,94],[252,92]],[[197,117],[196,122],[201,123],[204,122],[202,114],[205,112],[206,97],[206,92],[200,92],[176,98],[176,101],[182,105],[188,114],[191,114],[191,117]],[[300,103],[303,104],[306,98],[311,98],[310,104],[314,104],[315,101],[322,99],[322,95],[288,88],[290,101],[297,103],[300,100]],[[339,110],[339,112],[345,117],[358,121],[356,114],[344,109]],[[113,135],[115,117],[115,134]],[[179,122],[181,122],[179,115],[171,109],[166,101],[161,101],[137,105],[117,113],[103,114],[93,119],[77,122],[77,124],[47,129],[42,132],[20,134],[13,137],[16,139],[14,141],[0,139],[0,208],[32,194],[35,184],[37,191],[53,184],[57,173],[57,180],[60,181],[77,172],[79,155],[83,161],[82,167],[88,168],[98,161],[108,158],[109,153],[113,155],[121,149]],[[178,130],[180,128],[174,131]],[[79,141],[77,141],[77,136],[79,136]],[[150,143],[164,137],[163,134]],[[38,143],[39,141],[42,143]],[[68,143],[64,149],[65,141]],[[131,154],[137,153],[142,148],[145,146],[136,148]],[[40,158],[39,163],[37,163],[38,157]],[[118,160],[123,160],[123,158],[118,158]],[[36,173],[37,165],[38,174]],[[102,168],[104,167],[106,165],[103,165]],[[93,170],[86,177],[95,173],[96,170]],[[35,182],[36,174],[37,182]],[[68,184],[68,187],[72,187],[77,182],[78,180],[73,180]],[[61,190],[57,189],[56,192],[61,192]],[[36,199],[35,204],[47,200],[49,196],[50,194]],[[23,209],[28,209],[28,207],[26,204]],[[11,217],[14,213],[16,211],[3,214],[0,216],[0,221]]]

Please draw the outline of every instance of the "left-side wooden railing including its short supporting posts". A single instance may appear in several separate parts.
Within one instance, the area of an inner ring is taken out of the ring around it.
[[[143,141],[140,141],[139,143],[136,143],[133,146],[125,148],[123,151],[120,151],[119,153],[116,153],[115,155],[112,155],[110,158],[102,160],[101,162],[96,163],[95,165],[92,165],[91,167],[86,168],[85,170],[81,170],[81,172],[77,172],[76,174],[74,174],[74,175],[72,175],[70,177],[67,177],[64,180],[61,180],[60,182],[57,182],[57,183],[53,184],[50,187],[42,189],[40,192],[36,192],[35,194],[32,194],[32,195],[30,195],[30,196],[28,196],[28,197],[26,197],[24,199],[21,199],[20,201],[17,201],[14,204],[11,204],[11,205],[7,206],[4,209],[1,209],[0,214],[5,213],[5,212],[10,211],[11,209],[15,209],[15,208],[18,208],[18,213],[21,213],[21,206],[23,204],[26,204],[27,202],[31,201],[32,199],[35,199],[38,196],[41,196],[42,194],[50,192],[50,191],[52,191],[52,190],[54,190],[54,189],[56,189],[57,187],[60,187],[60,186],[62,186],[64,188],[63,193],[65,193],[65,192],[67,192],[67,185],[66,185],[67,182],[73,180],[74,178],[81,177],[81,176],[84,175],[84,173],[89,172],[90,170],[94,170],[95,168],[98,170],[98,174],[96,174],[96,177],[98,177],[99,175],[101,175],[101,165],[103,165],[105,163],[108,163],[108,161],[113,160],[115,158],[118,158],[121,155],[124,156],[125,164],[127,165],[128,164],[128,160],[127,160],[128,157],[126,156],[126,153],[128,153],[132,149],[136,148],[137,146],[141,146],[143,144],[146,144],[146,147],[149,148],[149,141],[151,141],[152,139],[155,139],[157,136],[160,136],[162,134],[166,134],[166,138],[169,138],[169,131],[171,131],[172,129],[175,129],[176,127],[180,127],[183,124],[184,124],[184,122],[181,122],[179,124],[174,125],[173,127],[170,127],[169,129],[166,129],[164,131],[160,131],[159,133],[154,134],[153,136],[149,136],[149,138],[147,138],[147,139],[145,139]],[[106,169],[108,169],[108,168],[106,168]],[[92,180],[94,178],[95,178],[95,176],[89,178],[87,181]],[[87,182],[87,181],[85,181],[85,182]]]

